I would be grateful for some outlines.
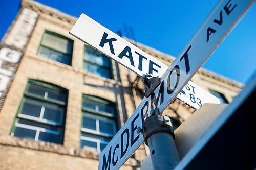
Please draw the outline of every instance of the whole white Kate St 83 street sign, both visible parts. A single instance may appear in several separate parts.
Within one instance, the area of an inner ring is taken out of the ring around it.
[[[84,14],[81,14],[78,18],[70,34],[134,71],[141,77],[145,76],[145,74],[162,77],[168,68],[161,61],[148,55],[140,50],[140,48]],[[216,96],[191,81],[188,82],[181,92],[177,98],[195,109],[199,109],[205,103],[221,103]]]

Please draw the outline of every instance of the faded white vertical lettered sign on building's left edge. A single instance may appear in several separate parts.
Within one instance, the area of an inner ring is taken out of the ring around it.
[[[38,14],[24,8],[0,44],[0,111],[11,87]]]

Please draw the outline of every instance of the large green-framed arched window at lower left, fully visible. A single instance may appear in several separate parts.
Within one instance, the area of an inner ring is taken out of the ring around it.
[[[11,135],[63,143],[67,90],[29,80]]]

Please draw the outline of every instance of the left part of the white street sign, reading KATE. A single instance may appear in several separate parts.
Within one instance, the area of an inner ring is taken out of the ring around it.
[[[161,77],[168,68],[140,48],[121,38],[98,22],[81,14],[70,34],[89,44],[102,54],[114,59],[139,76],[145,73]],[[160,69],[165,68],[165,69]]]

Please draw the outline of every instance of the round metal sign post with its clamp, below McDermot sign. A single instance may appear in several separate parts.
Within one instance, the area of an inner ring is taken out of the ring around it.
[[[170,118],[160,114],[158,108],[151,113],[143,123],[142,129],[144,141],[150,148],[151,162],[143,160],[141,169],[174,169],[180,158],[175,147],[175,135]],[[148,164],[152,167],[148,167]]]

